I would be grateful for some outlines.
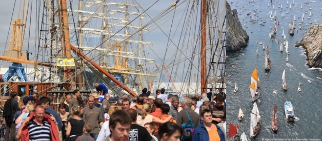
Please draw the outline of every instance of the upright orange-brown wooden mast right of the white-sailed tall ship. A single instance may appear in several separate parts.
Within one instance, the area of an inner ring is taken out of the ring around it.
[[[201,1],[201,21],[200,21],[200,34],[201,34],[201,49],[200,49],[200,62],[201,62],[201,70],[200,70],[200,77],[201,77],[201,93],[206,93],[207,91],[207,83],[206,83],[206,33],[207,33],[207,0]]]

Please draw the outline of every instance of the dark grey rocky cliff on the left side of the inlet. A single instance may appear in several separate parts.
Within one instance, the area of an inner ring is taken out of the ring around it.
[[[235,52],[247,47],[249,36],[238,19],[236,9],[231,11],[230,5],[226,1],[226,52]]]

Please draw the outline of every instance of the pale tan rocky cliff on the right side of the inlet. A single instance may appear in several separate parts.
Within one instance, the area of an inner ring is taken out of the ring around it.
[[[315,24],[295,47],[303,46],[306,49],[308,66],[322,68],[322,25]]]

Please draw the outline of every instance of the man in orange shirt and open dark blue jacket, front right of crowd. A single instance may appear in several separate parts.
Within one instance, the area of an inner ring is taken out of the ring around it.
[[[194,129],[192,141],[225,141],[225,134],[219,126],[212,124],[212,115],[209,109],[200,113],[204,124]]]

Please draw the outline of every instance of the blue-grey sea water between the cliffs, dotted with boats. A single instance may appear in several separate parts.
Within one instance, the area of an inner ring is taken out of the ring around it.
[[[231,1],[228,1],[231,3]],[[287,5],[287,0],[283,1],[273,1],[273,5],[269,4],[270,1],[256,1],[249,3],[249,1],[233,1],[231,5],[232,9],[237,9],[242,13],[238,14],[239,21],[242,23],[243,28],[247,31],[249,35],[248,47],[242,51],[227,53],[227,137],[229,131],[229,123],[239,124],[239,133],[245,132],[248,139],[251,140],[309,140],[309,139],[322,139],[322,80],[316,77],[322,77],[322,70],[319,68],[308,68],[306,66],[306,56],[304,56],[305,49],[295,48],[294,43],[296,41],[301,41],[304,37],[308,28],[312,25],[322,24],[322,15],[320,9],[322,8],[322,2],[320,1],[308,1],[309,4],[304,4],[305,1],[295,0],[294,5],[291,5],[293,1],[289,0]],[[283,9],[280,11],[278,6],[280,3]],[[268,7],[269,4],[269,7]],[[286,6],[290,6],[286,8]],[[302,9],[300,8],[302,5]],[[242,6],[244,6],[244,9]],[[296,7],[295,7],[296,6]],[[240,8],[240,9],[239,9]],[[310,8],[312,8],[310,10]],[[244,11],[242,11],[244,9]],[[250,19],[254,13],[254,19],[259,19],[256,24],[250,23]],[[251,11],[250,15],[247,12]],[[276,11],[277,19],[280,22],[277,25],[276,39],[271,40],[269,38],[269,33],[272,32],[274,28],[274,19],[270,19],[270,11],[273,15]],[[286,12],[289,13],[286,13]],[[305,13],[308,11],[308,13]],[[311,11],[311,19],[308,19],[309,13]],[[285,13],[285,17],[281,17],[281,14]],[[304,14],[304,22],[299,25],[301,17]],[[265,26],[259,24],[260,18],[265,20]],[[288,33],[289,22],[296,16],[296,29],[294,36]],[[243,20],[244,17],[244,20]],[[298,18],[300,17],[300,18]],[[310,24],[312,21],[312,24]],[[245,24],[248,28],[246,28]],[[299,26],[307,30],[299,30]],[[283,44],[282,27],[284,27],[284,32],[286,34],[286,39],[289,42],[289,52],[288,55],[289,62],[286,61],[285,47],[283,47],[284,52],[279,51],[279,44]],[[296,32],[298,30],[298,32]],[[252,32],[252,33],[251,33]],[[277,44],[277,40],[280,39],[280,43]],[[256,41],[264,42],[265,45],[269,47],[269,56],[271,59],[271,70],[265,72],[265,54],[267,51],[263,50],[263,45],[259,45]],[[259,55],[256,56],[256,48],[258,48]],[[236,68],[233,69],[231,66],[234,65]],[[254,68],[258,69],[258,76],[261,85],[260,97],[255,100],[258,106],[258,110],[261,116],[261,127],[259,133],[254,138],[250,138],[250,112],[253,107],[253,102],[251,99],[251,94],[249,85],[251,82],[250,75],[252,74]],[[282,83],[282,73],[286,70],[286,82],[288,84],[288,90],[283,90]],[[306,76],[301,76],[304,73]],[[226,76],[227,76],[226,75]],[[308,82],[312,81],[312,84]],[[238,91],[233,92],[235,87],[235,82],[237,82]],[[301,92],[297,91],[299,82],[303,82],[300,85]],[[273,94],[276,90],[277,93]],[[289,100],[293,104],[296,121],[293,123],[287,122],[285,118],[284,104],[286,100]],[[271,128],[271,118],[274,104],[276,104],[277,118],[279,121],[279,127],[277,132],[273,132]],[[242,121],[238,121],[238,110],[242,108],[245,117]],[[228,139],[228,138],[227,138]]]

